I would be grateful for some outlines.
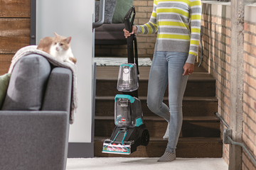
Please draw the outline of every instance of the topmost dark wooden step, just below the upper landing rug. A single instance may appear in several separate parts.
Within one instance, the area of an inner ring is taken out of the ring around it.
[[[147,95],[150,67],[142,67],[139,77],[139,96]],[[119,67],[97,67],[96,96],[115,96]],[[165,96],[168,96],[168,88]],[[215,79],[207,72],[195,72],[188,77],[184,96],[215,96]]]

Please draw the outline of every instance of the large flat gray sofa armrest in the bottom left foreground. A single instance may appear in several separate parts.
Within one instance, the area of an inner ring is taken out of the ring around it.
[[[65,169],[66,111],[0,111],[1,169]]]

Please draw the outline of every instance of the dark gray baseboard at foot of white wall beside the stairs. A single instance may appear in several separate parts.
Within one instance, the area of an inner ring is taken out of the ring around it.
[[[68,143],[68,158],[94,157],[94,143]]]

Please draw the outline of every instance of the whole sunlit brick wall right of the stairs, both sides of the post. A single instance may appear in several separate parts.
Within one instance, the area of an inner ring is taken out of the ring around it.
[[[256,7],[245,6],[244,89],[242,142],[256,158]],[[230,124],[230,3],[203,1],[203,67],[216,79],[218,113]],[[220,132],[223,132],[223,124]],[[223,137],[223,135],[222,135]],[[229,164],[229,145],[223,145],[223,159]],[[242,152],[242,169],[256,169]]]

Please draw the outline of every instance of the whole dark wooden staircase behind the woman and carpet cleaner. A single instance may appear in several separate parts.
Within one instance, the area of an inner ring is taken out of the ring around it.
[[[150,67],[139,67],[139,100],[142,102],[144,123],[150,141],[129,155],[102,153],[103,141],[109,139],[114,129],[114,96],[117,91],[119,67],[97,67],[95,102],[95,157],[161,157],[167,140],[163,139],[166,120],[151,113],[146,106],[147,83]],[[164,97],[168,105],[168,91]],[[188,78],[183,98],[183,125],[176,148],[176,157],[222,157],[220,120],[214,115],[218,100],[215,98],[215,79],[202,68]]]

